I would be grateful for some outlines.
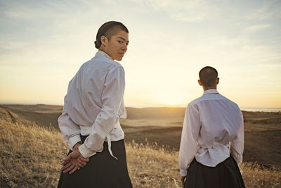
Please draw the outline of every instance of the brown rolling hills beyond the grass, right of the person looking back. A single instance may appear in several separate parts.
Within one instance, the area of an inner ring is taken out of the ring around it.
[[[121,120],[126,140],[157,142],[178,151],[185,108],[127,108]],[[244,161],[256,161],[265,168],[281,168],[281,113],[247,112],[244,115]]]

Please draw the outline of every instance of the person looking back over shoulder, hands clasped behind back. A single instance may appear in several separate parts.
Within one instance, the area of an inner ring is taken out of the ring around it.
[[[68,84],[58,125],[70,147],[58,187],[132,187],[126,163],[122,61],[129,30],[119,22],[103,24],[96,35],[98,52]],[[115,61],[117,60],[117,61]]]

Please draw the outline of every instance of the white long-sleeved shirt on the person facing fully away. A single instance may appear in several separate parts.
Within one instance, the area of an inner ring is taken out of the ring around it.
[[[178,163],[181,176],[193,158],[215,167],[231,155],[242,162],[244,151],[244,120],[233,101],[208,89],[204,95],[188,104],[185,111]]]

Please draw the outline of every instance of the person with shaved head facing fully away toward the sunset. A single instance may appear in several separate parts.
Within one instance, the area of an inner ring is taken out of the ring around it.
[[[202,68],[199,77],[204,94],[186,108],[178,153],[183,186],[244,187],[237,165],[244,151],[242,112],[216,90],[215,68]]]

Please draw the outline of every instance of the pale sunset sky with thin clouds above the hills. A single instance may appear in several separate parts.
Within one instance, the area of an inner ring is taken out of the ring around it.
[[[270,0],[1,0],[0,104],[63,105],[110,20],[129,29],[126,106],[185,107],[210,65],[241,108],[281,108],[281,1]]]

